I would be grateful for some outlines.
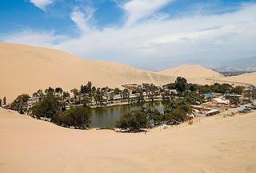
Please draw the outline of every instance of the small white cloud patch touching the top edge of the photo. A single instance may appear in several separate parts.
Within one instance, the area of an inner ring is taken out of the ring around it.
[[[172,1],[174,0],[131,0],[124,3],[122,9],[126,13],[126,26],[133,26]]]

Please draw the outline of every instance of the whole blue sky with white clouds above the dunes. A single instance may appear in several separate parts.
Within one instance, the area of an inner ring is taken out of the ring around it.
[[[256,55],[254,0],[2,0],[0,41],[166,69]]]

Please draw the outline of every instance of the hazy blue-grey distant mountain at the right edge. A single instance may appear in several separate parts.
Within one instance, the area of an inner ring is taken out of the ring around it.
[[[218,72],[255,72],[256,71],[256,57],[248,57],[242,60],[230,61],[228,65],[223,65],[216,68]]]

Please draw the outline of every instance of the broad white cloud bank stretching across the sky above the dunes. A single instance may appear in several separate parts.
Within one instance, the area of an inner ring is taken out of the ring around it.
[[[86,58],[146,65],[148,69],[162,69],[185,61],[216,65],[256,54],[256,4],[226,14],[150,18],[130,27],[95,29],[90,26],[89,17],[81,10],[71,15],[82,31],[78,37],[27,32],[4,37],[2,41],[44,45]]]

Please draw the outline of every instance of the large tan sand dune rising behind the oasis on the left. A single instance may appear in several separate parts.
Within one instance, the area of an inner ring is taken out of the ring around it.
[[[128,65],[89,61],[55,49],[0,43],[0,98],[9,102],[18,94],[33,93],[48,86],[69,91],[87,81],[98,87],[120,87],[126,83],[166,84],[174,77]]]

